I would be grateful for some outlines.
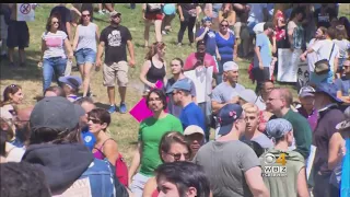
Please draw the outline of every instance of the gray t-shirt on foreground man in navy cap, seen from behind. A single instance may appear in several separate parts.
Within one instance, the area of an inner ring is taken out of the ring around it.
[[[260,166],[260,163],[253,149],[244,142],[210,141],[199,149],[192,161],[203,166],[214,197],[253,196],[244,173]]]

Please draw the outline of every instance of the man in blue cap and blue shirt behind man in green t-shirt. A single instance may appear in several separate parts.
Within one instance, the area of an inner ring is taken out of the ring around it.
[[[175,82],[166,93],[172,94],[175,105],[183,107],[178,118],[184,129],[190,125],[197,125],[206,130],[205,114],[201,108],[192,102],[190,90],[191,84],[188,81],[182,80]],[[209,134],[206,135],[209,136]]]

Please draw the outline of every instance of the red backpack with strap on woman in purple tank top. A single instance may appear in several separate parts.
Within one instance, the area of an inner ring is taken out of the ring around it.
[[[109,138],[109,139],[112,139],[112,138]],[[108,140],[108,139],[107,139]],[[107,141],[106,140],[106,141]],[[114,139],[112,139],[112,140],[114,140]],[[105,141],[105,142],[106,142]],[[103,146],[104,146],[104,143],[105,142],[103,142],[102,143],[102,147],[101,148],[103,148]],[[101,152],[102,153],[102,155],[104,157],[104,158],[106,158],[106,155],[102,152],[102,150],[100,150],[100,149],[97,149],[97,148],[94,148],[94,149],[96,149],[98,152]],[[124,160],[124,158],[122,158],[122,155],[119,153],[118,154],[118,159],[117,159],[117,161],[116,161],[116,163],[115,163],[115,174],[116,174],[116,177],[119,179],[119,182],[124,185],[124,186],[126,186],[126,187],[128,187],[129,186],[129,174],[128,174],[128,166],[127,166],[127,164],[126,164],[126,162],[125,162],[125,160]]]

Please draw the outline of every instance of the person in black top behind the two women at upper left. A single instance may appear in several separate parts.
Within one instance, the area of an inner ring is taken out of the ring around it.
[[[50,12],[51,15],[58,15],[60,18],[60,25],[59,30],[63,31],[68,35],[68,39],[72,39],[72,32],[71,32],[71,22],[72,16],[70,14],[70,10],[66,8],[66,3],[59,3],[59,5],[52,8]]]

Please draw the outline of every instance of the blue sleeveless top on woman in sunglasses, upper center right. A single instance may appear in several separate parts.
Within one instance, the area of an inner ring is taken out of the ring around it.
[[[233,45],[235,42],[235,36],[232,33],[229,33],[229,39],[221,37],[219,33],[215,35],[217,46],[219,49],[219,54],[221,56],[221,61],[233,61]]]

